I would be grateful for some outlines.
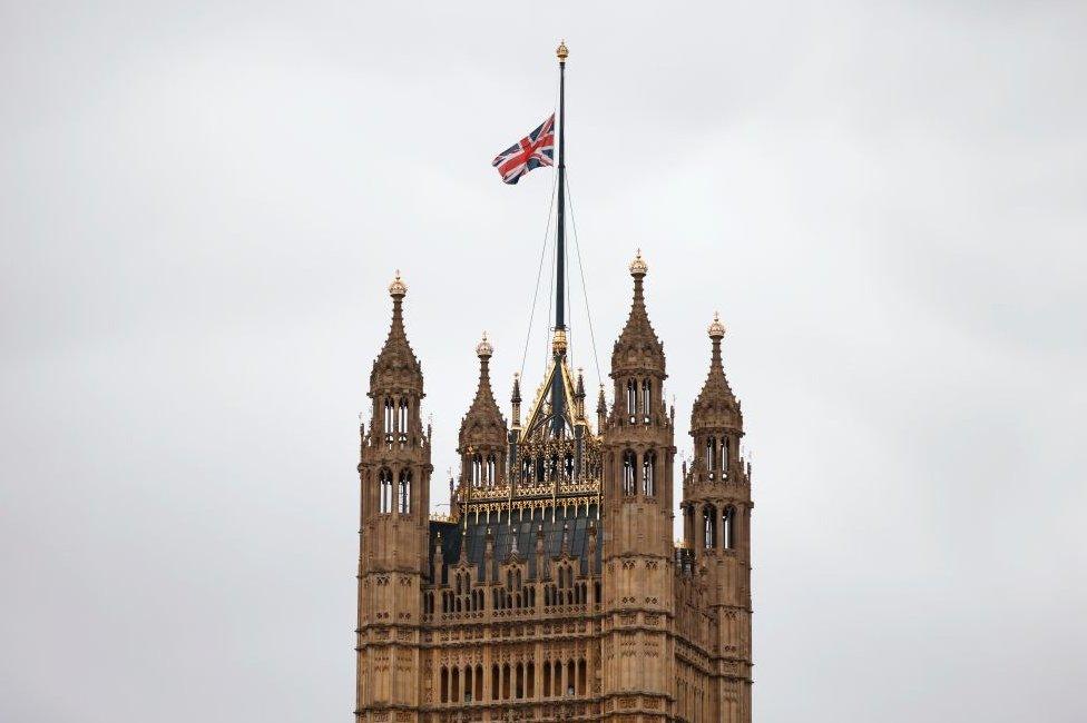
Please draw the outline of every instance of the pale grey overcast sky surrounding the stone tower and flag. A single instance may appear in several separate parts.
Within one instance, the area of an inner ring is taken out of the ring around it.
[[[1085,6],[402,4],[0,6],[0,720],[351,720],[386,287],[437,505],[559,38],[600,360],[642,247],[680,449],[728,327],[755,720],[1087,720]]]

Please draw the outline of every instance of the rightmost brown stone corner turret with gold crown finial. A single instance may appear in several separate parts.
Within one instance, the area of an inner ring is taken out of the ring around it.
[[[709,325],[709,374],[691,412],[694,464],[684,481],[684,539],[705,576],[715,648],[712,704],[718,720],[751,720],[751,468],[740,458],[744,419],[725,378],[721,340],[725,327]]]

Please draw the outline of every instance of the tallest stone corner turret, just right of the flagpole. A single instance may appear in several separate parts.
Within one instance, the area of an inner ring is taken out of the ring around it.
[[[664,721],[675,682],[672,543],[673,419],[664,406],[664,346],[645,307],[648,266],[630,264],[634,301],[611,353],[615,402],[604,429],[604,710]]]

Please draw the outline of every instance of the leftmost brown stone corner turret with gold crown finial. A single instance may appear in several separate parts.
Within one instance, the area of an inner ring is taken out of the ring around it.
[[[422,367],[403,324],[408,287],[389,287],[392,326],[370,373],[373,404],[362,438],[358,680],[360,721],[415,721],[419,624],[428,568],[430,430],[420,420]]]

